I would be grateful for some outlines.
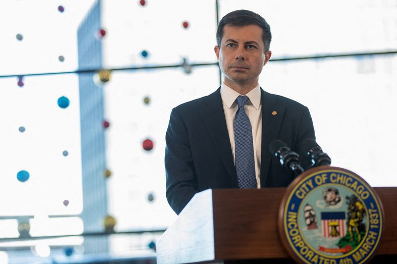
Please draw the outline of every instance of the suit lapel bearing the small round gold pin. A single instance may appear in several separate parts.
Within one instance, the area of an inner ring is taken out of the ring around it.
[[[277,139],[284,116],[285,107],[277,105],[277,100],[273,95],[265,92],[261,88],[262,102],[262,146],[261,146],[261,187],[265,187],[271,154],[269,144]]]

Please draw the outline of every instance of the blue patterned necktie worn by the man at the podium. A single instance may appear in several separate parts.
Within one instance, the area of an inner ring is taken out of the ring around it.
[[[254,161],[254,144],[250,119],[244,111],[247,96],[239,96],[236,99],[239,108],[234,118],[234,151],[239,188],[257,188]]]

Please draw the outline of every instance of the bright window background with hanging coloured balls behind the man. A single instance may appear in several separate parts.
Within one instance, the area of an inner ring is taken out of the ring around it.
[[[0,3],[0,264],[154,263],[171,109],[213,92],[218,20],[265,17],[267,92],[332,165],[397,186],[397,0]]]

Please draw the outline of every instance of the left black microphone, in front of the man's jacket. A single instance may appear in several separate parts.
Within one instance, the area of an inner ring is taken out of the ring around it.
[[[294,172],[295,175],[303,173],[304,169],[300,164],[299,155],[291,151],[281,140],[273,140],[269,145],[269,151],[271,155],[279,159],[281,166],[287,170]]]

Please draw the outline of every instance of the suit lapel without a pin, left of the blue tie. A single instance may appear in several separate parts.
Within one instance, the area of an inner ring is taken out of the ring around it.
[[[211,135],[213,144],[216,147],[231,180],[237,188],[236,168],[233,162],[229,133],[227,131],[222,98],[220,96],[220,88],[209,96],[204,97],[202,102],[204,107],[201,107],[200,110],[201,118],[206,130]]]

